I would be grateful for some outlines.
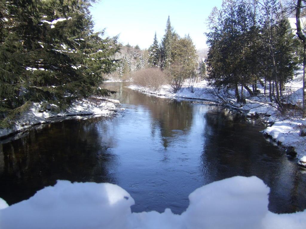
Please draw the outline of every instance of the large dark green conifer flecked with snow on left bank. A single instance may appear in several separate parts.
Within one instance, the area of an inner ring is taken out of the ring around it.
[[[114,70],[117,38],[93,32],[91,0],[0,2],[0,128],[33,102],[58,109],[99,88]]]

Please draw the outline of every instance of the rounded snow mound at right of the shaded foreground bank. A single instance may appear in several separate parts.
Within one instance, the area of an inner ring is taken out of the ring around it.
[[[269,192],[255,176],[225,179],[192,192],[183,214],[188,228],[260,228]]]

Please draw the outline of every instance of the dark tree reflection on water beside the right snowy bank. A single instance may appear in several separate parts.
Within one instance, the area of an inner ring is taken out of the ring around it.
[[[306,208],[306,178],[283,150],[263,139],[259,133],[263,126],[252,126],[239,114],[225,110],[210,111],[204,117],[202,171],[206,183],[232,176],[257,176],[271,188],[271,211],[290,213]]]

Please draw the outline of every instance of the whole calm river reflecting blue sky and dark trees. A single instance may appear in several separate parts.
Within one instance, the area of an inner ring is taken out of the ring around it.
[[[0,197],[11,205],[56,180],[110,182],[131,194],[133,212],[182,213],[196,188],[239,175],[257,176],[271,188],[270,211],[306,209],[306,170],[263,137],[263,125],[125,84],[106,83],[125,108],[116,118],[41,125],[0,142]]]

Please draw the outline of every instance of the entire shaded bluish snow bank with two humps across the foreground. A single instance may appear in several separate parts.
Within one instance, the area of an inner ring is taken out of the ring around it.
[[[133,198],[117,185],[58,181],[0,210],[0,228],[305,228],[306,211],[268,211],[269,191],[257,177],[236,176],[192,192],[181,215],[132,213]]]

